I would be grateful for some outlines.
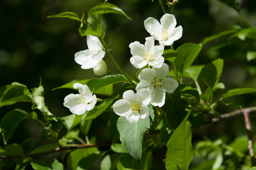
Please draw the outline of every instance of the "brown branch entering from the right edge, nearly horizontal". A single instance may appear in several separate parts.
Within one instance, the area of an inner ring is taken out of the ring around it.
[[[210,124],[210,123],[217,123],[217,122],[220,122],[222,120],[226,120],[226,119],[230,119],[230,118],[234,118],[234,117],[238,117],[238,116],[243,116],[243,113],[245,113],[245,112],[249,113],[249,114],[252,113],[252,112],[256,113],[256,107],[243,108],[241,110],[236,110],[236,111],[233,111],[233,112],[220,114],[220,115],[218,115],[218,117],[214,117],[210,121],[204,122],[202,125]]]

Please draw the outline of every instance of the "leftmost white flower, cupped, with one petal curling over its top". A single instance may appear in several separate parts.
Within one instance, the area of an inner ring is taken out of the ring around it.
[[[86,111],[90,111],[94,108],[97,102],[96,95],[92,95],[87,85],[80,83],[73,84],[75,89],[79,89],[79,94],[70,94],[64,99],[64,106],[69,108],[73,114],[83,114]]]

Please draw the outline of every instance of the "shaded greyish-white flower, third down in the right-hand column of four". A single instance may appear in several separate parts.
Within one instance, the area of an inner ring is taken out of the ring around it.
[[[139,91],[146,88],[151,95],[151,104],[162,107],[166,99],[166,93],[172,93],[179,86],[176,80],[166,77],[169,71],[169,66],[163,63],[160,69],[152,67],[152,69],[143,69],[139,74],[139,80],[136,90]]]

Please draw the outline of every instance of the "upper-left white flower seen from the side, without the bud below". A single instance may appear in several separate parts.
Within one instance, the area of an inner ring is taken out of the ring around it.
[[[105,52],[102,50],[102,44],[98,37],[88,35],[87,45],[89,49],[75,54],[75,61],[81,65],[82,69],[92,69],[97,66],[105,56]]]

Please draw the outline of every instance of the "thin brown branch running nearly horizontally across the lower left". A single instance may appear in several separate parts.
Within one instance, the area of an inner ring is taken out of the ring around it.
[[[46,152],[38,152],[35,154],[23,154],[23,155],[0,155],[0,159],[14,159],[14,158],[36,158],[38,156],[53,154],[60,151],[65,150],[76,150],[77,148],[89,148],[89,147],[106,147],[112,145],[112,142],[102,142],[102,143],[91,143],[85,145],[77,145],[77,146],[69,146],[69,147],[56,147],[55,150],[46,151]]]

